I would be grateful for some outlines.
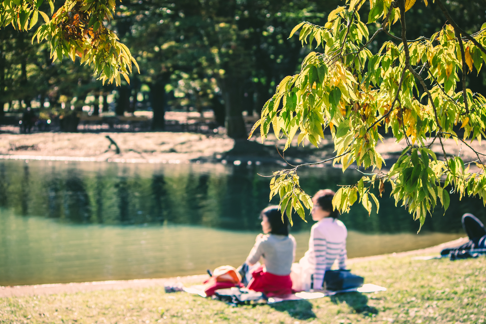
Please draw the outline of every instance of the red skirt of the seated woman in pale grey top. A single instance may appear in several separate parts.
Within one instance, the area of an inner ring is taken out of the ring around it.
[[[268,297],[280,296],[292,293],[292,280],[290,274],[277,275],[263,272],[263,266],[253,272],[253,278],[246,288],[261,291]]]

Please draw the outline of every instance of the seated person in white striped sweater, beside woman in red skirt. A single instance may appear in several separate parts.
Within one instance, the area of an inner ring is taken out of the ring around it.
[[[336,259],[339,269],[346,269],[347,228],[338,220],[339,212],[332,208],[332,197],[334,191],[330,189],[319,190],[312,197],[314,206],[311,214],[316,223],[311,228],[309,250],[299,261],[304,275],[302,290],[321,290],[324,273],[331,269]]]

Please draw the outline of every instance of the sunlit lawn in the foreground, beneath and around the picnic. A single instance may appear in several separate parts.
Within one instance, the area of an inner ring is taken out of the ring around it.
[[[163,288],[0,299],[0,323],[486,323],[486,257],[352,265],[387,291],[230,307]]]

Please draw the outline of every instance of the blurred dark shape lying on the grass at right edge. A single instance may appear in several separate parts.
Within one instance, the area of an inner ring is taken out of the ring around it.
[[[443,249],[441,256],[449,256],[451,260],[478,257],[486,253],[486,229],[483,223],[474,215],[466,213],[462,215],[462,227],[468,234],[469,241],[463,245]]]

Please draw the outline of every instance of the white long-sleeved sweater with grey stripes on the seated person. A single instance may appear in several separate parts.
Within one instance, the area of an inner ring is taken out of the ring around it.
[[[312,225],[309,250],[302,259],[306,259],[305,263],[314,270],[314,289],[321,289],[324,273],[331,269],[336,259],[339,269],[346,269],[346,238],[347,228],[339,220],[326,217]]]

